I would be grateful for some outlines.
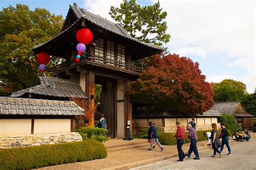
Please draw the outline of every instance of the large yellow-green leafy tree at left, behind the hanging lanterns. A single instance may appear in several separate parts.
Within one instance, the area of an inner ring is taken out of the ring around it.
[[[0,11],[0,93],[8,95],[36,84],[40,74],[32,47],[51,39],[62,28],[62,16],[46,9],[17,4]],[[59,59],[51,57],[50,65]]]

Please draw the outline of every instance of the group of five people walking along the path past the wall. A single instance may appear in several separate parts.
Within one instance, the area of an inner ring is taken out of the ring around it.
[[[148,149],[148,151],[153,151],[153,148],[155,147],[153,145],[154,142],[157,143],[157,145],[160,148],[160,151],[163,151],[164,147],[158,141],[156,126],[154,126],[154,123],[151,121],[149,122],[149,126],[150,128],[149,128],[148,139],[150,142],[150,148]],[[194,119],[192,118],[192,121],[190,121],[190,123],[187,124],[187,130],[188,130],[187,138],[190,139],[190,148],[188,149],[188,152],[186,154],[183,152],[183,149],[182,149],[182,146],[184,144],[184,139],[185,139],[185,129],[183,126],[181,126],[179,121],[176,122],[176,126],[177,126],[177,131],[176,131],[176,134],[173,134],[173,136],[177,138],[177,149],[178,149],[178,155],[179,155],[179,160],[177,161],[183,162],[185,158],[190,158],[192,152],[194,153],[194,155],[196,155],[196,157],[194,157],[193,159],[200,160],[198,149],[197,149],[197,141],[198,141],[197,131],[196,131],[197,125],[194,122]],[[210,146],[212,145],[213,155],[211,157],[215,157],[217,153],[219,154],[219,157],[221,157],[223,155],[222,152],[225,145],[228,149],[227,155],[232,155],[231,148],[229,145],[228,131],[225,127],[225,124],[220,124],[220,127],[222,128],[220,135],[218,132],[217,124],[215,123],[212,124],[212,132],[204,133],[208,139],[207,145],[210,145]],[[219,139],[222,139],[221,142]],[[211,141],[211,144],[210,144],[210,141]]]

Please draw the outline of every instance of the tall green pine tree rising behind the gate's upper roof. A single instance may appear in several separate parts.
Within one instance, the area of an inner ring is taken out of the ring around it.
[[[169,42],[164,19],[167,12],[162,12],[159,1],[149,6],[140,6],[136,0],[124,0],[120,8],[111,6],[110,16],[121,24],[134,38],[146,43],[162,45]]]

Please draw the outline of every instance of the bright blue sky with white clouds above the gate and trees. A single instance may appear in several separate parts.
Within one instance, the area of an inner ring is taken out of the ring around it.
[[[33,10],[45,8],[65,19],[69,4],[113,21],[110,6],[119,6],[122,0],[0,0],[0,7],[17,3]],[[157,0],[137,0],[141,5],[152,5]],[[223,79],[242,81],[249,93],[256,85],[255,8],[254,1],[173,1],[160,0],[167,12],[167,33],[170,42],[164,44],[170,53],[191,58],[200,64],[202,74],[209,82]]]

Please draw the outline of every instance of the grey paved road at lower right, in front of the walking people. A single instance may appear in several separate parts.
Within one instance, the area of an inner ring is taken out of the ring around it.
[[[177,162],[177,158],[156,162],[145,166],[133,168],[142,169],[256,169],[256,138],[249,142],[233,142],[231,144],[233,155],[227,156],[227,148],[224,148],[224,155],[219,158],[212,158],[212,150],[201,151],[200,160],[185,159],[184,162]],[[193,155],[194,157],[194,155]]]

